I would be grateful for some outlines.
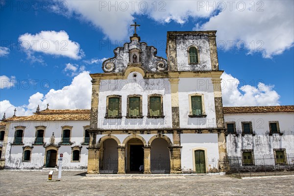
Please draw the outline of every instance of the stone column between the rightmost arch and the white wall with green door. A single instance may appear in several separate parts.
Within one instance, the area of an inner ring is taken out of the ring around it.
[[[182,173],[181,148],[169,147],[171,152],[171,173]]]

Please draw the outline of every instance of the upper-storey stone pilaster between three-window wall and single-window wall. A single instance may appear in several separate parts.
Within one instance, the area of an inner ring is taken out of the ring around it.
[[[171,94],[172,94],[172,128],[180,127],[180,112],[179,112],[179,78],[170,78]]]

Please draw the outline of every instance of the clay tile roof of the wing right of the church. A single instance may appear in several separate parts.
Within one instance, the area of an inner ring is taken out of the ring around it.
[[[294,105],[223,107],[224,114],[265,113],[265,112],[294,112]]]

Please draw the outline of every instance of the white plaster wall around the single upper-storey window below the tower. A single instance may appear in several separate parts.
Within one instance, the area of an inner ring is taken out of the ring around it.
[[[190,118],[189,95],[204,95],[206,118]],[[211,78],[180,78],[179,81],[179,112],[181,128],[208,128],[216,126],[214,89]]]

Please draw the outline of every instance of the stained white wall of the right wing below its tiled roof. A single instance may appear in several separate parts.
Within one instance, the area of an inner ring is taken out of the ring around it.
[[[255,113],[224,114],[225,122],[236,122],[235,134],[226,137],[228,156],[241,156],[242,149],[253,149],[255,155],[273,154],[274,148],[285,148],[286,153],[294,153],[294,114],[293,113]],[[255,136],[242,136],[241,122],[252,122]],[[269,135],[269,121],[278,121],[283,135]]]

